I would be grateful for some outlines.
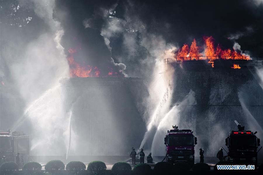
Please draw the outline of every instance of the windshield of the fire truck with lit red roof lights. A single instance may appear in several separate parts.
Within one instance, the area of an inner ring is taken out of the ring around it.
[[[248,148],[256,146],[256,137],[253,135],[237,135],[230,137],[230,145],[233,148]]]

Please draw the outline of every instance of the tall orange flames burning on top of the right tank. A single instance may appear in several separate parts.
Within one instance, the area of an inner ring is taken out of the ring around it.
[[[214,47],[214,38],[212,36],[204,36],[204,43],[205,43],[205,49],[203,50],[203,53],[199,52],[199,47],[196,46],[196,41],[193,39],[193,42],[191,44],[190,50],[187,44],[184,44],[184,46],[179,49],[177,53],[177,61],[179,60],[209,60],[208,63],[211,64],[212,67],[214,67],[214,61],[215,59],[235,59],[235,60],[250,60],[250,56],[244,55],[242,53],[239,53],[235,50],[231,49],[222,49],[220,45],[218,44],[217,47]],[[219,57],[218,57],[219,56]],[[184,57],[184,58],[183,58]],[[191,58],[190,58],[191,57]],[[240,69],[240,68],[236,68]]]

